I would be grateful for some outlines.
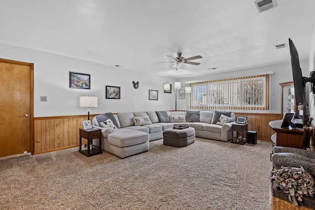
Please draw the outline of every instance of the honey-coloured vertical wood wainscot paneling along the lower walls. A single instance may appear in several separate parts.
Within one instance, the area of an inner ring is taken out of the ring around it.
[[[95,115],[90,115],[90,119]],[[235,113],[236,117],[247,117],[248,129],[257,131],[257,138],[270,140],[274,133],[269,122],[281,120],[281,114]],[[61,116],[34,118],[34,154],[63,150],[79,146],[79,128],[88,117]],[[85,144],[84,142],[82,144]]]

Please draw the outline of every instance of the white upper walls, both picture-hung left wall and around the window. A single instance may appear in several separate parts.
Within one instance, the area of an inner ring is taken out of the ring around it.
[[[98,107],[91,108],[91,114],[175,110],[174,91],[172,90],[171,94],[163,93],[163,83],[169,81],[174,84],[175,80],[170,78],[1,43],[0,58],[34,63],[34,117],[87,114],[86,108],[79,107],[78,101],[79,96],[88,95],[98,97]],[[308,60],[300,60],[300,64],[303,76],[308,76]],[[91,90],[70,89],[69,71],[91,74]],[[279,83],[293,81],[289,54],[288,61],[282,64],[209,74],[180,81],[183,86],[187,81],[236,78],[270,71],[273,71],[273,74],[269,83],[269,110],[249,112],[280,114],[281,87]],[[138,89],[133,88],[132,81],[140,83]],[[106,85],[121,87],[121,99],[105,99]],[[158,101],[148,99],[149,89],[158,90]],[[47,102],[41,102],[40,96],[47,96]],[[177,110],[188,110],[188,102],[189,94],[187,93],[186,99],[177,99]]]

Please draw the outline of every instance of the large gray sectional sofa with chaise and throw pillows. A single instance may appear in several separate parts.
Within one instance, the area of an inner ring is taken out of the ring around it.
[[[175,125],[193,127],[196,137],[227,142],[233,121],[231,112],[150,111],[105,113],[95,116],[92,124],[102,130],[102,149],[124,158],[149,150],[149,141],[163,138],[163,131]]]

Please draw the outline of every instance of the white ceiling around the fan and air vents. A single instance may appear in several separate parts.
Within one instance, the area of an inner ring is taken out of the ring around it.
[[[0,0],[0,42],[117,68],[183,78],[308,59],[315,0]],[[200,55],[200,65],[166,57]],[[216,67],[216,70],[208,68]]]

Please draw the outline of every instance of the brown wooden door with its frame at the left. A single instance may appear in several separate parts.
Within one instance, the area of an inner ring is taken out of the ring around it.
[[[0,59],[0,157],[33,153],[33,64]]]

